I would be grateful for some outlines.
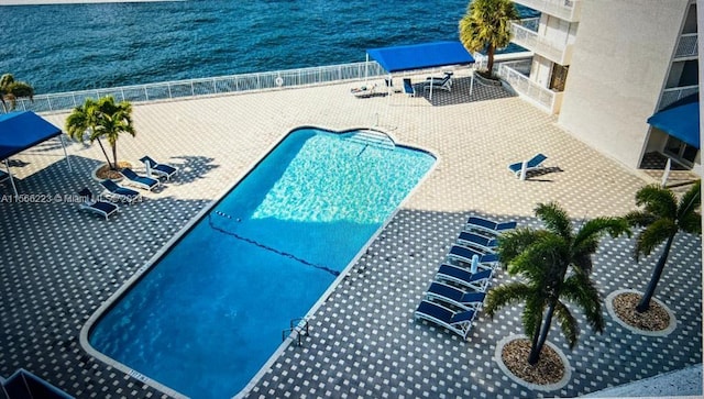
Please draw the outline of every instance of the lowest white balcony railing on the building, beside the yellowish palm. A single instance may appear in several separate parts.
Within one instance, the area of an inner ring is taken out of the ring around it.
[[[498,66],[498,76],[521,97],[535,102],[550,113],[559,112],[562,93],[544,88],[519,73],[517,69],[526,69],[524,63],[526,62],[502,63]]]

